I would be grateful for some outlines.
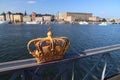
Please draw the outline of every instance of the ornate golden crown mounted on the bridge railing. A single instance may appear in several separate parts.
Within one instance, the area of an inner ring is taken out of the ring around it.
[[[35,46],[33,50],[30,49],[32,44]],[[70,41],[67,37],[53,38],[52,28],[49,28],[46,38],[30,40],[27,49],[37,63],[42,63],[63,59],[69,45]]]

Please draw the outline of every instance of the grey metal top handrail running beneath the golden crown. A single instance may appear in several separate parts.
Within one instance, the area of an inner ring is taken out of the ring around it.
[[[28,68],[37,67],[37,66],[44,66],[48,64],[64,63],[68,61],[79,60],[81,58],[94,56],[97,54],[104,54],[104,53],[108,53],[108,52],[116,51],[116,50],[120,50],[120,44],[100,47],[100,48],[94,48],[94,49],[88,49],[88,50],[83,51],[83,54],[80,54],[80,56],[77,56],[77,57],[72,57],[72,58],[67,58],[67,59],[62,59],[62,60],[52,61],[52,62],[46,62],[46,63],[40,63],[40,64],[36,63],[34,58],[3,62],[3,63],[0,63],[0,74],[4,74],[9,71],[28,69]]]

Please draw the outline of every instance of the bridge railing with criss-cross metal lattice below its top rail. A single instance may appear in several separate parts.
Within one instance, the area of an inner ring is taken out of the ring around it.
[[[116,44],[40,64],[34,58],[3,62],[0,63],[0,80],[117,80],[119,76],[111,76],[120,72],[119,61],[113,58],[119,50],[120,44]]]

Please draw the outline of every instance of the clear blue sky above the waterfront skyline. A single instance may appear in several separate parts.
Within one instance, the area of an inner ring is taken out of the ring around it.
[[[25,11],[41,14],[93,13],[101,18],[120,18],[120,0],[0,0],[0,13]]]

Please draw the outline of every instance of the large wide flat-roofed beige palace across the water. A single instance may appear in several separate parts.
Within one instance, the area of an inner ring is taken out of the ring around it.
[[[64,21],[87,21],[89,17],[92,17],[92,13],[74,13],[74,12],[65,12],[58,15],[59,20]]]

